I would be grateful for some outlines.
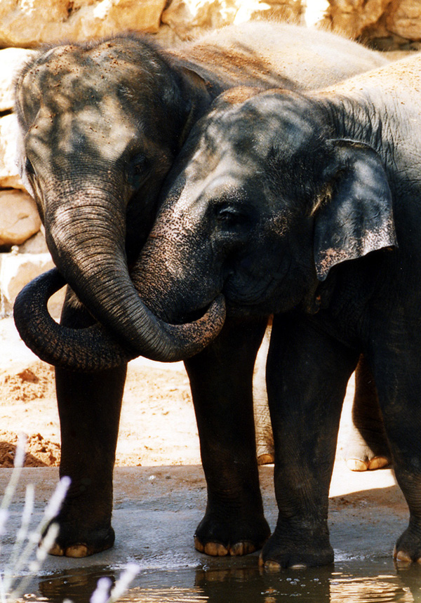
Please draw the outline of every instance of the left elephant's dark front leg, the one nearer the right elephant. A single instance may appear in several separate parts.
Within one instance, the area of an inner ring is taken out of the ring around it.
[[[267,319],[226,321],[206,350],[185,362],[208,487],[195,546],[208,555],[245,555],[270,530],[263,515],[253,420],[253,366]]]

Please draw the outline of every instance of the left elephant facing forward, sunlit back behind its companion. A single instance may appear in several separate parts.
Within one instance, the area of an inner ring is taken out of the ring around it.
[[[208,484],[196,547],[242,555],[269,537],[251,385],[268,317],[225,319],[220,296],[194,324],[167,326],[140,304],[131,270],[164,179],[220,93],[232,86],[309,90],[385,62],[328,32],[261,22],[227,27],[172,51],[133,35],[62,44],[22,69],[15,88],[20,171],[62,275],[52,281],[69,285],[59,331],[81,337],[70,353],[77,366],[60,352],[60,337],[49,342],[61,357],[55,362],[60,475],[72,479],[53,554],[83,557],[114,543],[119,414],[127,362],[139,354],[185,358]],[[35,285],[41,297],[51,289],[43,283]],[[26,328],[44,329],[25,303],[17,302],[15,320],[24,339]],[[86,353],[84,333],[95,329],[109,352]]]

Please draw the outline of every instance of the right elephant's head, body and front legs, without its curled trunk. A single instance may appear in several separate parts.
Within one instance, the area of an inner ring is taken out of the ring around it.
[[[132,273],[170,321],[220,293],[230,316],[275,313],[269,568],[333,561],[328,489],[361,353],[410,512],[394,557],[421,559],[420,86],[417,55],[321,93],[225,93],[187,141]]]

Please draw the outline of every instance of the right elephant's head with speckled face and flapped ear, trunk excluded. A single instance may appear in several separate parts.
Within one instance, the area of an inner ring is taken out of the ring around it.
[[[221,293],[237,315],[312,305],[335,265],[396,244],[379,155],[335,138],[312,97],[228,91],[179,157],[131,273],[162,319]]]

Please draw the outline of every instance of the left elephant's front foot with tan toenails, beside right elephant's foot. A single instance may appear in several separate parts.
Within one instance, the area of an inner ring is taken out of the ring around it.
[[[269,535],[269,525],[262,515],[246,520],[234,512],[229,517],[228,512],[218,520],[206,513],[194,534],[194,548],[213,557],[249,555],[262,548]]]

